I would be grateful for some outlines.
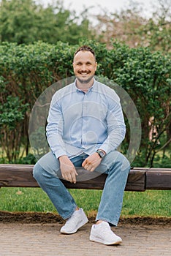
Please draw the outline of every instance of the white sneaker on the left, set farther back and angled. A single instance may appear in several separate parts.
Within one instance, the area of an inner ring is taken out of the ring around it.
[[[80,208],[79,211],[75,211],[74,214],[72,214],[72,217],[66,221],[65,225],[61,227],[60,231],[63,234],[73,234],[76,233],[77,230],[87,222],[88,218],[86,217],[83,209]]]

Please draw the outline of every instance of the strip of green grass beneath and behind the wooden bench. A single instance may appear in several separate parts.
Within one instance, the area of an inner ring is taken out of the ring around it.
[[[70,189],[88,216],[96,214],[102,190]],[[39,188],[0,189],[0,211],[53,212],[56,209]],[[121,217],[171,217],[171,191],[125,192]]]

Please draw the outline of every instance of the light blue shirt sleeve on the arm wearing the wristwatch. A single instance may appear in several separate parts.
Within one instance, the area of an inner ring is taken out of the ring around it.
[[[126,125],[123,118],[120,99],[115,91],[113,98],[108,98],[107,110],[107,138],[100,148],[107,153],[118,148],[126,134]]]

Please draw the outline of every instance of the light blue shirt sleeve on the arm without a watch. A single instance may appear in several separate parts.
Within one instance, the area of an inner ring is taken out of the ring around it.
[[[62,139],[64,118],[61,111],[60,100],[53,97],[47,117],[46,135],[47,142],[56,158],[66,155],[64,140]]]

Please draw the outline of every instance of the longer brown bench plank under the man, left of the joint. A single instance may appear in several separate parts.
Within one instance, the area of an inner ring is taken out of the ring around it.
[[[39,187],[32,176],[34,165],[6,165],[0,164],[0,187]],[[145,168],[134,168],[130,171],[126,184],[127,191],[145,191]],[[105,174],[86,181],[61,181],[71,189],[103,189]]]

